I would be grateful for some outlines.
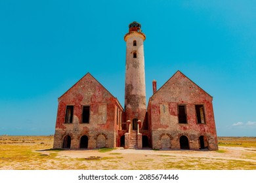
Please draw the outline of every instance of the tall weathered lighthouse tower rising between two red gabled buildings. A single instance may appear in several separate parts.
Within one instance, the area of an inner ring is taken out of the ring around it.
[[[125,62],[125,121],[131,121],[133,130],[137,122],[144,122],[146,115],[146,85],[144,69],[144,41],[146,35],[138,22],[129,24]],[[141,127],[141,125],[140,125]]]

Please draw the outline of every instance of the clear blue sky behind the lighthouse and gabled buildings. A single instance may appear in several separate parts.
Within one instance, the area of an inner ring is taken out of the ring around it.
[[[256,136],[253,0],[0,0],[0,135],[54,134],[58,97],[88,72],[123,105],[133,21],[147,101],[180,70],[213,96],[217,135]]]

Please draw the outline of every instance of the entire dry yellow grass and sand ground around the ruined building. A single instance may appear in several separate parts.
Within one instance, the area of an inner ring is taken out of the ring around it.
[[[219,137],[215,152],[52,147],[53,136],[0,136],[0,169],[256,169],[255,137]]]

